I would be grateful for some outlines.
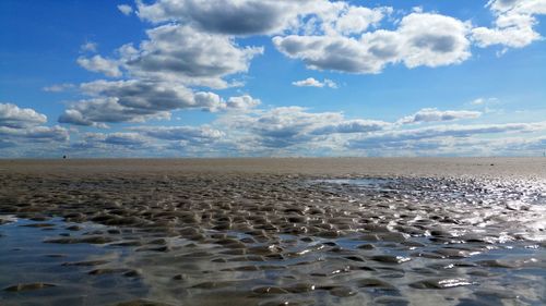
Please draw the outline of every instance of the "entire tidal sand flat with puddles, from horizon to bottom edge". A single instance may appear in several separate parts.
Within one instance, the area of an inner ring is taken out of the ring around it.
[[[0,185],[1,305],[546,303],[542,158],[2,160]]]

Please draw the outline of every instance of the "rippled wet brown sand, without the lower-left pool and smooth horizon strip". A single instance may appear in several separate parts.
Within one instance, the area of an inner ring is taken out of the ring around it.
[[[122,249],[61,265],[147,289],[111,298],[120,305],[545,302],[544,182],[2,173],[0,183],[0,212],[32,220],[24,227],[48,245]]]

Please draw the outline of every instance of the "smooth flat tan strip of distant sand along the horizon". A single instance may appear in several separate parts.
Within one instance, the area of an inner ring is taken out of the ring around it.
[[[0,159],[1,172],[24,173],[262,173],[365,176],[533,176],[546,179],[543,157],[316,157]]]

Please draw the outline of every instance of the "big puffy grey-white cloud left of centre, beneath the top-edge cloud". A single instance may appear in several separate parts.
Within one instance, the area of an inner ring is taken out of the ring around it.
[[[250,60],[263,52],[263,48],[241,48],[229,37],[185,25],[163,25],[146,33],[150,39],[139,49],[126,50],[121,59],[131,75],[141,78],[224,88],[228,84],[223,77],[247,72]]]

